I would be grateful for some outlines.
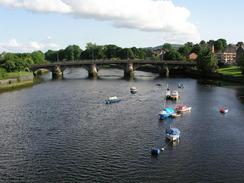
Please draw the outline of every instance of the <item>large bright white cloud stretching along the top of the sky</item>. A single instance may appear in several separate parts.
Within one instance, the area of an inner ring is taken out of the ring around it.
[[[169,40],[200,40],[190,11],[170,0],[0,0],[0,5],[109,21],[115,27],[161,32]]]

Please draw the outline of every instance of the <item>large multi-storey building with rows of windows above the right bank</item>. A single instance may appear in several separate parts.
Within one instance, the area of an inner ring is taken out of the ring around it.
[[[228,45],[223,52],[219,51],[216,53],[217,60],[224,64],[235,64],[236,63],[236,46]]]

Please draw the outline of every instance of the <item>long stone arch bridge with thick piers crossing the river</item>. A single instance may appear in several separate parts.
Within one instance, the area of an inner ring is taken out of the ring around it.
[[[153,61],[153,60],[80,60],[80,61],[66,61],[55,62],[50,64],[32,65],[31,71],[35,75],[35,71],[39,69],[47,69],[52,72],[54,79],[62,78],[63,72],[66,68],[80,68],[83,67],[88,71],[89,77],[97,77],[98,70],[105,66],[116,67],[124,70],[125,78],[134,77],[134,71],[143,66],[151,66],[161,76],[169,76],[170,69],[188,69],[196,67],[195,62],[186,61]]]

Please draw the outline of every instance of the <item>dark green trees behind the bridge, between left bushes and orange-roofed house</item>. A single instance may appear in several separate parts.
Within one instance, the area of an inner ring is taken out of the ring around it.
[[[92,59],[145,59],[153,58],[148,48],[121,48],[116,45],[96,45],[87,43],[85,50],[78,45],[70,45],[58,51],[48,50],[45,58],[49,62],[77,61]]]

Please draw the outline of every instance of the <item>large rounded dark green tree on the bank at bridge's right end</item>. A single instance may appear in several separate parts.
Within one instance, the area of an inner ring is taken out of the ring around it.
[[[207,47],[201,48],[197,57],[197,68],[203,73],[216,72],[218,68],[216,56]]]

